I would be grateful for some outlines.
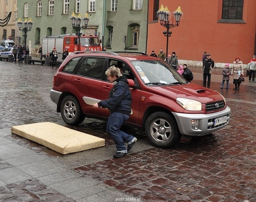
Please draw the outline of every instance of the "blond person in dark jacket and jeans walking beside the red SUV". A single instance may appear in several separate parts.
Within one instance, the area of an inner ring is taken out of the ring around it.
[[[137,138],[120,130],[123,122],[129,119],[131,114],[132,95],[128,86],[128,81],[122,77],[119,68],[115,65],[105,72],[108,80],[114,84],[109,92],[108,99],[102,100],[93,105],[94,108],[108,108],[110,115],[107,123],[107,134],[113,137],[117,152],[114,158],[121,158],[132,149]],[[127,149],[124,143],[127,143]]]

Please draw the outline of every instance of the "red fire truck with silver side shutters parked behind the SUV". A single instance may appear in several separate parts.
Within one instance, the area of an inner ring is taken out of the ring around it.
[[[89,47],[91,51],[97,51],[97,48],[101,51],[100,40],[97,36],[85,36],[80,37],[80,47],[78,48],[78,36],[75,34],[70,35],[57,35],[47,36],[42,39],[42,55],[49,56],[53,48],[56,48],[58,53],[63,53],[65,48],[69,53],[74,53],[78,50],[86,50]]]

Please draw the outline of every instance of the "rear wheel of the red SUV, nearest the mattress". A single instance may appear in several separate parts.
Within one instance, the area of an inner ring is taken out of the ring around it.
[[[85,118],[78,100],[72,95],[63,98],[60,104],[60,113],[63,121],[68,125],[78,125]]]

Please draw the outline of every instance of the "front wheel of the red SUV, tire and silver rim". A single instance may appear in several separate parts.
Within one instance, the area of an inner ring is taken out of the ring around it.
[[[155,112],[148,117],[145,132],[151,144],[160,148],[169,148],[181,139],[177,123],[164,112]]]

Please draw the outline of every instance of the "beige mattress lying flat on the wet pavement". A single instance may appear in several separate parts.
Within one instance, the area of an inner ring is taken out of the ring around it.
[[[105,139],[75,131],[51,122],[11,127],[11,132],[44,145],[61,154],[105,146]]]

